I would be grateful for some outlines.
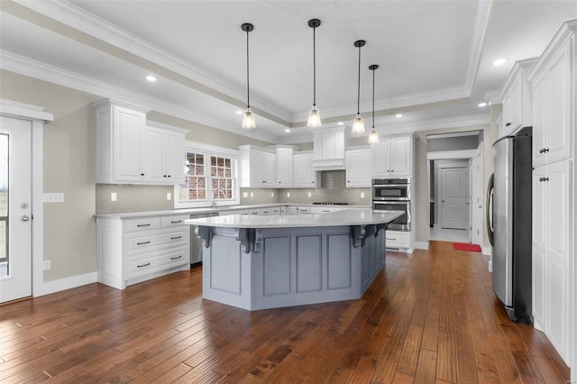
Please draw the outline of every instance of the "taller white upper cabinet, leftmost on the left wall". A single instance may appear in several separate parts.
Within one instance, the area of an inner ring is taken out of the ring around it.
[[[148,110],[108,99],[94,105],[96,183],[142,183]]]

